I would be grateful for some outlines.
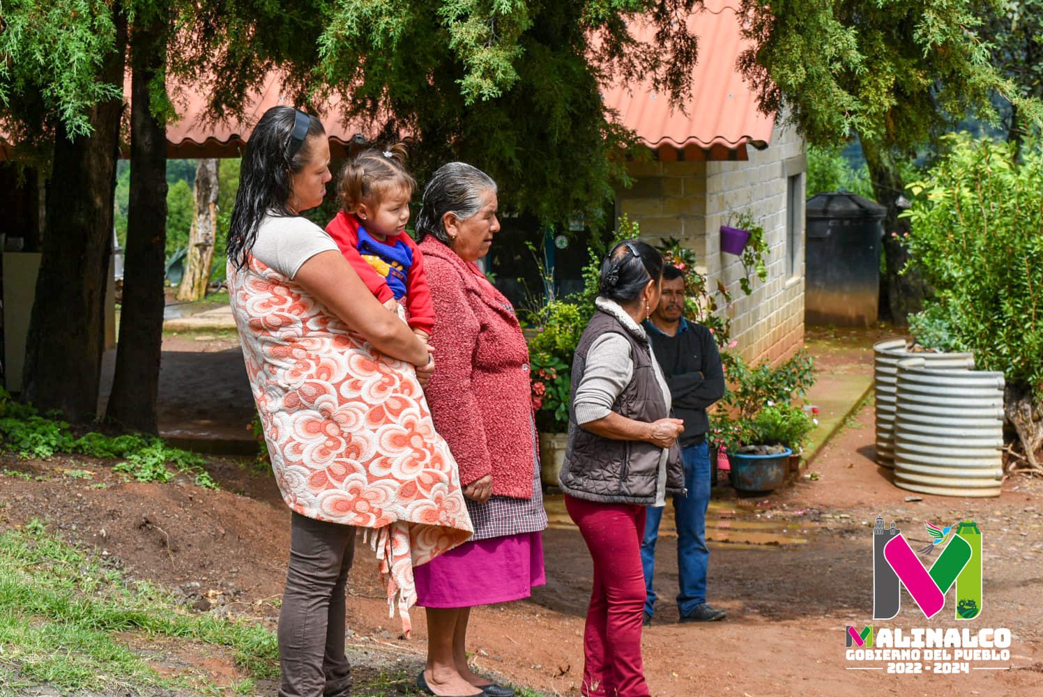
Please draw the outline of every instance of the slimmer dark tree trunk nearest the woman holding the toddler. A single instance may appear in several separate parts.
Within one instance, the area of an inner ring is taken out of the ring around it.
[[[167,127],[150,98],[154,80],[165,83],[167,17],[162,15],[130,31],[130,197],[120,340],[106,413],[110,420],[148,433],[157,431],[167,238]]]

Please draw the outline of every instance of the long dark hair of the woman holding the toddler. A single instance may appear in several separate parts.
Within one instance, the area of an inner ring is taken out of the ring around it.
[[[325,135],[322,123],[306,115],[308,134],[302,143],[295,142],[296,115],[297,110],[291,106],[272,106],[258,121],[246,143],[228,224],[228,261],[236,268],[246,265],[265,215],[272,211],[278,216],[296,215],[287,208],[292,192],[290,174],[299,172],[312,159],[309,141]]]

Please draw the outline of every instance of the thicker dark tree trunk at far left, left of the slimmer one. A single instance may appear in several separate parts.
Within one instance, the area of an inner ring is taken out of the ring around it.
[[[116,49],[99,76],[122,85],[122,14],[116,23]],[[90,136],[70,139],[62,124],[55,128],[22,395],[40,409],[62,411],[71,422],[97,415],[122,113],[122,99],[104,101],[90,110]]]

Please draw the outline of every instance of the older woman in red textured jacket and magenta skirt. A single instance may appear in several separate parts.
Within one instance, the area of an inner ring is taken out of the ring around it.
[[[458,162],[435,172],[416,222],[435,306],[438,367],[427,391],[435,427],[459,466],[475,534],[416,569],[429,634],[417,682],[433,695],[513,694],[467,666],[470,608],[527,598],[544,582],[547,513],[529,350],[514,308],[475,265],[499,230],[496,185],[488,175]]]

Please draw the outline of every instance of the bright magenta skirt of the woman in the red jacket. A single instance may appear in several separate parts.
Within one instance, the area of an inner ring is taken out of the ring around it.
[[[415,567],[416,604],[474,607],[522,600],[547,583],[543,537],[523,532],[466,542]]]

